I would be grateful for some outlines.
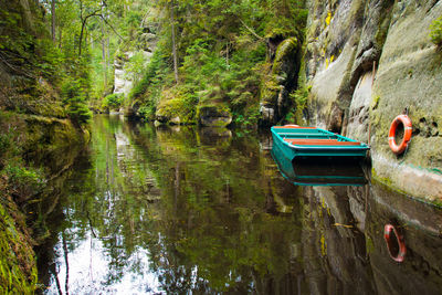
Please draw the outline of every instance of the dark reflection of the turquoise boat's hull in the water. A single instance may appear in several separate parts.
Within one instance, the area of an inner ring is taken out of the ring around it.
[[[367,183],[360,159],[354,157],[284,157],[277,145],[272,157],[281,173],[296,186],[364,186]]]

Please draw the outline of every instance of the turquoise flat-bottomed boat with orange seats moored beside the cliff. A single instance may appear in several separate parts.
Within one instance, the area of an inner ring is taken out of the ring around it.
[[[290,161],[297,157],[362,159],[369,149],[364,143],[316,127],[285,125],[273,126],[271,130],[273,145],[277,146]]]

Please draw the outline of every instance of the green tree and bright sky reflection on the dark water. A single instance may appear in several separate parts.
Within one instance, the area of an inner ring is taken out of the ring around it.
[[[64,220],[53,230],[66,240],[70,293],[297,285],[296,191],[257,138],[96,117],[90,151],[65,186]],[[53,260],[64,291],[59,238]],[[57,293],[54,276],[46,284]]]

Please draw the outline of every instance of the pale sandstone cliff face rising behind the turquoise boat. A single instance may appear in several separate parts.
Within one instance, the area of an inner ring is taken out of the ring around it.
[[[442,1],[309,1],[306,52],[312,124],[371,145],[373,175],[396,189],[442,200],[442,52],[430,24]],[[388,145],[408,109],[409,149]],[[411,181],[412,179],[412,181]]]

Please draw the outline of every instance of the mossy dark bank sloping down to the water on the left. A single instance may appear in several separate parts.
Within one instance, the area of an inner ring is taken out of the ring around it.
[[[0,291],[32,294],[38,288],[33,246],[48,235],[44,213],[31,204],[50,198],[88,141],[86,129],[67,119],[0,112]]]

